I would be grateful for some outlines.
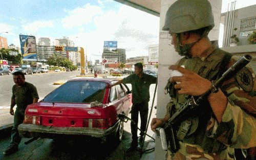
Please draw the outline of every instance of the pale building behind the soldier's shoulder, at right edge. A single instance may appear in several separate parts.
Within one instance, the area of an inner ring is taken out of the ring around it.
[[[222,50],[234,55],[252,56],[250,66],[256,73],[256,44],[250,44],[249,36],[256,31],[256,5],[234,9],[236,1],[230,4],[228,11],[221,14],[224,25]],[[231,38],[232,37],[232,38]]]

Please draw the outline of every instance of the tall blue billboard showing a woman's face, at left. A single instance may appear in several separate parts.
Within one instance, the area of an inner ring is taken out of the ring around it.
[[[20,49],[22,50],[22,58],[26,61],[36,61],[36,41],[35,36],[19,35]]]

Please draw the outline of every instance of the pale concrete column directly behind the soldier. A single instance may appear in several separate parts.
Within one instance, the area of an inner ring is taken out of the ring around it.
[[[169,96],[164,94],[164,87],[169,78],[170,71],[168,66],[175,64],[181,57],[174,50],[174,46],[170,44],[171,39],[167,31],[162,31],[164,26],[165,13],[170,5],[176,0],[161,0],[160,9],[160,31],[159,31],[159,68],[158,68],[158,90],[157,90],[157,118],[163,118],[166,112],[166,104],[169,101]],[[209,1],[214,12],[215,27],[210,31],[210,40],[218,40],[220,17],[221,17],[221,0]],[[166,151],[162,150],[161,142],[156,137],[155,159],[165,159]]]

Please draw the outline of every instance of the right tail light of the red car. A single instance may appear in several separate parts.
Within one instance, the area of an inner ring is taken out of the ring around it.
[[[83,119],[83,127],[107,129],[110,123],[108,119]]]

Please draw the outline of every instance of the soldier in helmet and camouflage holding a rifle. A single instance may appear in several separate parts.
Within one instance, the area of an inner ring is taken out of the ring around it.
[[[182,75],[168,80],[166,115],[152,120],[153,131],[163,127],[191,96],[204,94],[211,82],[238,60],[211,43],[208,32],[213,27],[207,0],[178,0],[168,8],[162,30],[168,31],[175,51],[184,56],[169,69]],[[255,75],[247,65],[225,81],[217,93],[211,93],[200,110],[190,111],[174,126],[180,149],[171,151],[169,144],[166,159],[234,159],[234,148],[255,147],[255,89]]]

